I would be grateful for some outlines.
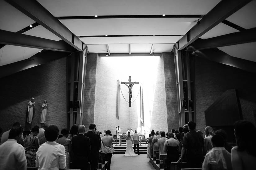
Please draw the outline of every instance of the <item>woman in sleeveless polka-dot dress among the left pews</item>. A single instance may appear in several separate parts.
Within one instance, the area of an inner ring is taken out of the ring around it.
[[[39,148],[39,141],[36,135],[39,133],[39,129],[34,127],[31,130],[31,134],[24,139],[24,144],[26,147],[26,159],[27,167],[36,167],[36,152]]]

